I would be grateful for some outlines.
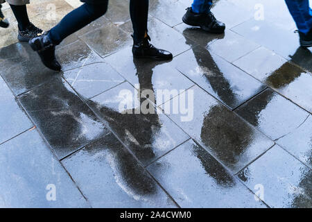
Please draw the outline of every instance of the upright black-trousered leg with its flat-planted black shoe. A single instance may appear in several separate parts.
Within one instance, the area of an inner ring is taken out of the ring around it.
[[[135,58],[171,60],[173,55],[170,52],[157,49],[149,43],[148,0],[130,0],[130,17],[133,27],[133,56]]]

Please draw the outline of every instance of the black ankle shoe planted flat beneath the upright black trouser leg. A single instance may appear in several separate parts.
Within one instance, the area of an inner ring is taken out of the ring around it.
[[[142,42],[133,44],[132,53],[135,58],[153,58],[155,60],[172,60],[173,56],[170,52],[157,49],[149,43],[150,37],[145,37]]]

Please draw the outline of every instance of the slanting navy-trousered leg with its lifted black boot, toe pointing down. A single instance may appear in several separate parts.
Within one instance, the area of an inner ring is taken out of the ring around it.
[[[87,2],[87,0],[85,0]],[[89,0],[88,0],[89,1]],[[60,71],[60,63],[55,58],[55,46],[60,44],[65,37],[75,33],[80,28],[105,14],[108,0],[92,1],[69,12],[62,21],[51,28],[43,36],[35,37],[29,42],[34,51],[37,51],[46,67]]]

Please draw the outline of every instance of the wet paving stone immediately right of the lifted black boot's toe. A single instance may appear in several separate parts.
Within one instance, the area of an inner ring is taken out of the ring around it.
[[[56,48],[56,57],[62,65],[62,71],[103,61],[98,54],[89,49],[85,42],[80,40],[73,42],[72,44]]]

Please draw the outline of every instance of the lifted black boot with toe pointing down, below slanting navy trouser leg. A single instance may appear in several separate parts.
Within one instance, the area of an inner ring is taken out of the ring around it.
[[[55,58],[55,44],[52,44],[48,33],[44,33],[39,37],[35,37],[28,42],[33,51],[37,51],[43,64],[49,69],[60,71],[62,69],[60,63]]]

